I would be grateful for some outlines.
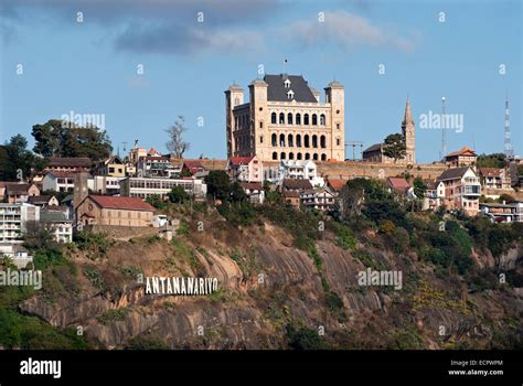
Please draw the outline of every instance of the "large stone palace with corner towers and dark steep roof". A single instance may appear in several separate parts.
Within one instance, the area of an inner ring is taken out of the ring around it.
[[[344,160],[344,88],[331,82],[324,101],[301,75],[265,75],[225,90],[227,158]]]

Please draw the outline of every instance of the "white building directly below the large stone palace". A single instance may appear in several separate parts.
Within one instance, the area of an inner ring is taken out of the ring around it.
[[[265,180],[279,185],[284,179],[309,180],[314,187],[322,187],[324,181],[318,176],[318,168],[311,160],[281,161],[278,168],[265,169]]]

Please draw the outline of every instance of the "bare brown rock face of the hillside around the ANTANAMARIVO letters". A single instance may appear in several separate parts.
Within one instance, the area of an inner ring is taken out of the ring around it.
[[[323,329],[325,340],[340,339],[344,349],[384,347],[403,340],[441,349],[462,336],[491,336],[492,326],[481,323],[489,313],[502,319],[508,310],[511,318],[523,312],[521,291],[466,299],[459,291],[450,293],[417,256],[371,247],[376,264],[404,274],[403,288],[362,288],[357,276],[367,267],[354,253],[332,239],[319,240],[319,270],[275,226],[266,226],[263,235],[242,234],[234,243],[211,237],[183,243],[119,242],[99,261],[73,256],[79,272],[86,265],[98,269],[105,287],[82,277],[79,296],[64,293],[54,302],[36,296],[20,309],[55,326],[81,325],[89,340],[108,349],[122,349],[136,336],[154,336],[171,349],[216,350],[285,349],[288,324]],[[511,249],[504,264],[514,267],[520,258],[521,249]],[[493,265],[491,256],[476,253],[476,259]],[[215,277],[220,289],[201,297],[150,296],[136,278],[115,274],[126,266],[139,268],[145,277]],[[461,279],[456,280],[459,289]]]

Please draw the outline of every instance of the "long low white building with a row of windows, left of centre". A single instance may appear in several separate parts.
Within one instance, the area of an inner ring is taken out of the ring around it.
[[[120,181],[120,194],[130,197],[147,199],[160,195],[166,199],[168,193],[175,186],[183,190],[195,200],[204,200],[207,194],[207,185],[198,179],[145,179],[127,178]]]

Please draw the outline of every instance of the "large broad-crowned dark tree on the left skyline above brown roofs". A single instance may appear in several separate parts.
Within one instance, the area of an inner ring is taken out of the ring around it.
[[[110,156],[113,147],[105,130],[78,127],[60,119],[34,125],[34,152],[43,157],[87,157],[98,161]]]

